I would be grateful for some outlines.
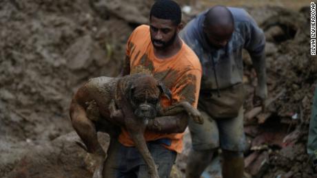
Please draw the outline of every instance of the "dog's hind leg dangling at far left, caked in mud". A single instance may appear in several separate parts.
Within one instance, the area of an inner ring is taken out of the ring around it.
[[[96,157],[97,165],[93,177],[102,178],[105,152],[98,142],[94,123],[87,118],[85,109],[74,101],[70,105],[70,119],[76,133],[85,144],[88,153],[92,153]]]

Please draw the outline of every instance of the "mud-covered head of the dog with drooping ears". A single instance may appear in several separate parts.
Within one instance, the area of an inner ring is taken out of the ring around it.
[[[153,76],[142,75],[130,83],[127,98],[137,118],[154,119],[161,109],[162,94],[169,99],[172,98],[170,89],[167,89],[162,82],[158,82]]]

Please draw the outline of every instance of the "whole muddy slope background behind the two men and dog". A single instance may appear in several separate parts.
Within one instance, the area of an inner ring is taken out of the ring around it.
[[[92,158],[74,144],[79,138],[68,117],[71,96],[88,78],[119,74],[127,37],[147,23],[153,2],[0,1],[0,177],[92,175]],[[185,22],[209,5],[197,3]],[[305,154],[317,78],[317,59],[309,55],[309,9],[263,5],[243,7],[265,30],[269,95],[279,97],[267,113],[245,120],[245,176],[314,177]],[[247,112],[256,81],[247,54],[244,61]],[[185,138],[172,177],[183,177],[190,148]]]

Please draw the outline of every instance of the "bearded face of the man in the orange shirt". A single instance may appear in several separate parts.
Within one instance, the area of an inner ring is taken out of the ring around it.
[[[153,46],[156,49],[165,49],[172,45],[179,32],[179,25],[174,25],[171,20],[150,18],[150,34]]]

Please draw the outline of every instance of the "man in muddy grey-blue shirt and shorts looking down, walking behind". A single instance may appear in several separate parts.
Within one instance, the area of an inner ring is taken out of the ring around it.
[[[265,36],[245,10],[214,6],[198,14],[180,34],[203,65],[198,109],[204,124],[190,121],[192,150],[186,177],[200,177],[220,147],[223,177],[243,177],[243,60],[247,49],[257,74],[256,97],[267,98]]]

